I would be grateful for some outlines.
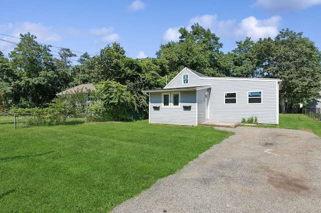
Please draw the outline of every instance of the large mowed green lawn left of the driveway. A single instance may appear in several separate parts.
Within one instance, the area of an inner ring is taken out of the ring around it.
[[[110,211],[233,134],[146,120],[0,129],[2,212]]]

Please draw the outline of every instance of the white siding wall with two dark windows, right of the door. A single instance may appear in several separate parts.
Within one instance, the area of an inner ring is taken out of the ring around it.
[[[210,120],[241,122],[257,116],[259,123],[278,123],[277,81],[220,79],[213,80]],[[215,91],[215,92],[214,92]],[[237,91],[237,104],[225,104],[224,93]],[[263,104],[248,103],[248,91],[262,91]]]

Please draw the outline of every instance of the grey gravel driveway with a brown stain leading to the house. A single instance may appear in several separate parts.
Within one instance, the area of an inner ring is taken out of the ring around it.
[[[321,212],[321,138],[239,126],[113,212]]]

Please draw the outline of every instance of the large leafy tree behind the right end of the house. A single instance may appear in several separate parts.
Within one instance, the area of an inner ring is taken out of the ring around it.
[[[256,46],[261,75],[282,79],[280,98],[287,110],[300,102],[306,104],[321,89],[321,54],[302,34],[282,29],[274,41],[260,39]]]

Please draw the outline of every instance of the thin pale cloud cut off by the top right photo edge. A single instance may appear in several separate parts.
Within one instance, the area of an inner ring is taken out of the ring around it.
[[[268,12],[283,10],[301,10],[321,4],[321,0],[257,0],[252,6]]]

